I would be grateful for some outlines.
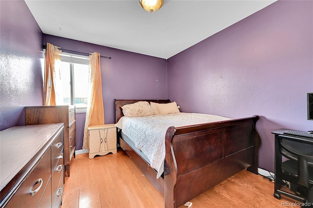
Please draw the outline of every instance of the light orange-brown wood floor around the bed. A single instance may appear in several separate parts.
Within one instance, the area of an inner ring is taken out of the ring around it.
[[[191,208],[281,208],[282,203],[295,202],[284,196],[274,198],[273,190],[273,183],[243,170],[190,200]],[[164,207],[164,196],[120,149],[94,159],[88,154],[72,158],[63,194],[61,208]]]

